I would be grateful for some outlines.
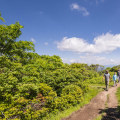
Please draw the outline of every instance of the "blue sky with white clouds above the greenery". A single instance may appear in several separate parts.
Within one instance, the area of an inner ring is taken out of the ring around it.
[[[19,40],[65,63],[120,64],[120,0],[0,0],[6,25],[24,26]],[[0,21],[0,24],[3,24]]]

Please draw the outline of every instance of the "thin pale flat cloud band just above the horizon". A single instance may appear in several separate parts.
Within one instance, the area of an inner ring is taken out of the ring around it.
[[[64,59],[62,58],[64,63],[86,63],[88,65],[91,64],[100,64],[100,65],[118,65],[118,60],[107,59],[101,56],[94,56],[94,55],[85,55],[80,56],[79,59]]]

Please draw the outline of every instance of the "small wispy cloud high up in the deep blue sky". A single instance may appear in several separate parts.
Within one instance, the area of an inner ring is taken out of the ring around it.
[[[85,7],[79,6],[77,3],[72,3],[70,7],[71,10],[77,10],[81,12],[83,16],[88,16],[90,14]]]

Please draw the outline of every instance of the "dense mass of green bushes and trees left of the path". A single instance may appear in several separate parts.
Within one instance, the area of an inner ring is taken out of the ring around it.
[[[100,83],[93,66],[34,53],[32,42],[17,41],[21,28],[0,25],[0,119],[42,119],[79,104],[89,84]]]

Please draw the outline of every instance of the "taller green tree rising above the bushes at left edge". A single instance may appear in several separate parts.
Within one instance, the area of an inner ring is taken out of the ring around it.
[[[19,22],[11,25],[0,25],[0,56],[7,56],[11,60],[25,62],[31,58],[29,52],[34,51],[34,44],[30,41],[17,41],[21,35]]]

